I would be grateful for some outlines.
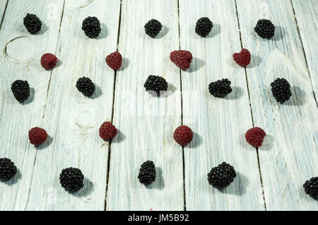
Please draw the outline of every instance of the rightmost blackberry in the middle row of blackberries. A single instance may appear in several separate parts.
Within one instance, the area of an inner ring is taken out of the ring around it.
[[[278,78],[271,83],[271,92],[278,103],[283,103],[291,96],[290,84],[286,79]]]

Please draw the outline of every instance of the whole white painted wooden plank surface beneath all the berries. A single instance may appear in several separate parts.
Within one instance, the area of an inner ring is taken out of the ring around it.
[[[302,188],[318,171],[312,92],[317,91],[316,8],[314,0],[8,0],[7,7],[0,1],[0,157],[18,167],[13,180],[0,182],[0,209],[317,210]],[[26,13],[44,23],[39,34],[25,30]],[[87,16],[102,23],[96,40],[81,30]],[[202,16],[214,23],[206,38],[194,33]],[[261,40],[253,31],[263,17],[277,27],[273,40]],[[151,18],[163,23],[155,39],[143,29]],[[105,57],[117,50],[117,42],[124,62],[115,73]],[[241,44],[252,53],[246,70],[232,62]],[[194,56],[188,71],[170,62],[170,52],[179,47]],[[60,59],[52,71],[40,66],[45,52]],[[167,80],[167,96],[146,93],[143,83],[150,74]],[[76,90],[81,76],[97,86],[91,98]],[[276,77],[293,86],[293,97],[283,105],[271,95]],[[214,98],[208,83],[222,78],[232,81],[233,92]],[[16,79],[33,88],[27,103],[11,93]],[[98,136],[106,120],[119,129],[111,143]],[[258,150],[244,138],[253,122],[268,134]],[[181,124],[195,132],[184,149],[172,138]],[[35,126],[49,134],[39,148],[28,141]],[[146,160],[157,170],[148,188],[137,178]],[[208,185],[207,173],[222,161],[238,175],[218,191]],[[69,166],[86,177],[74,195],[59,184],[61,169]]]

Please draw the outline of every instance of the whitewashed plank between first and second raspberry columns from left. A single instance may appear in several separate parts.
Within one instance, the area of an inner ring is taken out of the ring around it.
[[[49,87],[43,127],[51,143],[37,152],[27,209],[103,210],[108,144],[98,135],[102,122],[111,120],[114,71],[105,57],[117,48],[120,1],[66,1],[57,50],[61,59]],[[100,19],[97,39],[86,37],[81,23],[87,16]],[[96,91],[86,98],[76,81],[88,76]],[[69,194],[59,183],[63,168],[80,168],[84,188]]]

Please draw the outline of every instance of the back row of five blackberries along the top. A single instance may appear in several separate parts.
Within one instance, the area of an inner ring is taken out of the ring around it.
[[[25,18],[23,18],[23,24],[30,34],[35,35],[42,28],[42,22],[34,14],[28,13]],[[155,37],[160,33],[160,30],[163,28],[163,25],[160,21],[151,19],[145,25],[145,32],[150,37]],[[211,32],[213,28],[212,21],[207,17],[199,18],[196,21],[195,32],[201,37],[206,37]],[[100,21],[95,16],[88,16],[85,18],[82,23],[82,30],[86,36],[90,38],[96,38],[100,35]],[[275,34],[275,26],[271,21],[266,19],[261,19],[257,22],[257,25],[254,28],[255,32],[262,38],[270,39]]]

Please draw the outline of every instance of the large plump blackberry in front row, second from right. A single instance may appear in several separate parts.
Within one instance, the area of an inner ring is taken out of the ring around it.
[[[208,183],[214,188],[225,188],[233,182],[235,177],[236,172],[233,166],[223,162],[208,173]]]

